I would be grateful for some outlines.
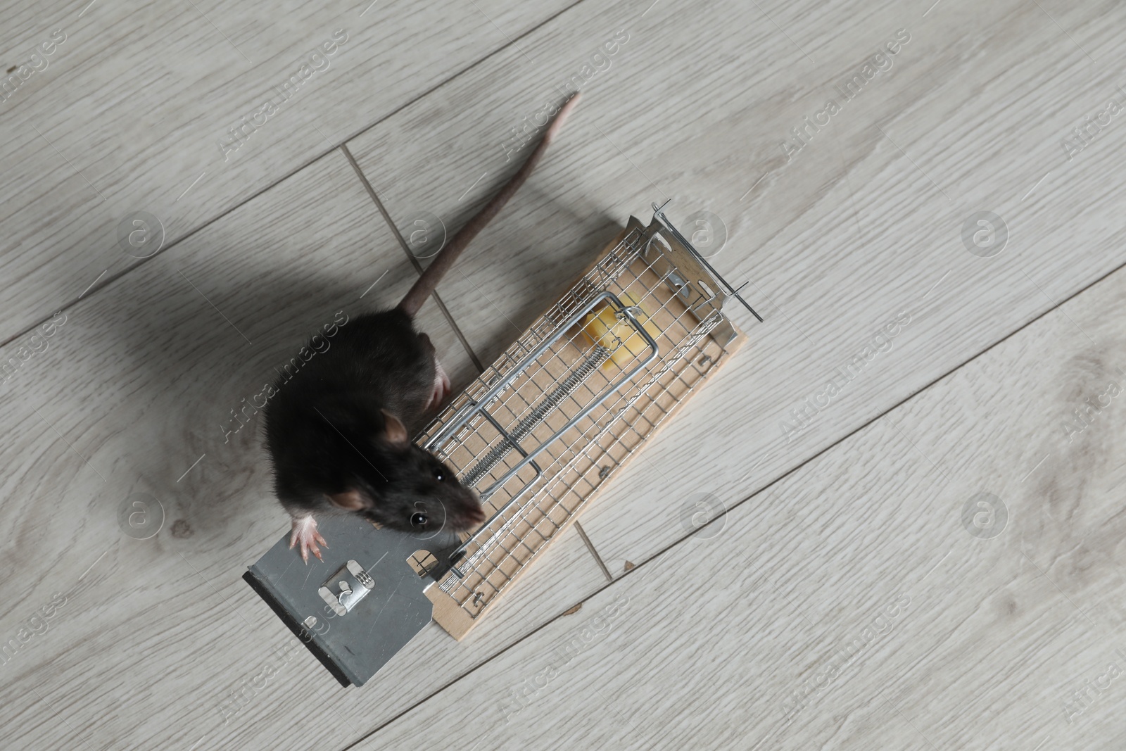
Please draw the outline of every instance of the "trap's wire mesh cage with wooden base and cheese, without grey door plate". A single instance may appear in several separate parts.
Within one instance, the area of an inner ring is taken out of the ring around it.
[[[654,431],[745,339],[754,314],[653,206],[422,432],[486,521],[444,562],[434,617],[461,638]]]

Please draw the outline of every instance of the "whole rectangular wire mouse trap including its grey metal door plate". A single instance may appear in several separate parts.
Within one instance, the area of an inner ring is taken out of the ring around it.
[[[283,537],[244,575],[345,686],[430,620],[462,638],[606,481],[744,341],[739,296],[654,204],[415,439],[485,507],[472,535],[325,519],[306,566]]]

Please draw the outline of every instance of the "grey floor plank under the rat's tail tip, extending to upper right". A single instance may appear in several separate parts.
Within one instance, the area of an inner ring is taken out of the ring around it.
[[[629,35],[441,287],[488,358],[651,200],[726,225],[714,262],[767,321],[734,311],[748,347],[584,513],[615,574],[685,535],[701,497],[745,498],[1126,260],[1126,135],[1061,149],[1121,96],[1118,6],[579,6],[529,35],[531,62],[506,50],[350,142],[396,222],[458,226],[515,169],[509,125]],[[897,33],[891,66],[793,153],[793,128]],[[1000,254],[963,240],[981,211],[1007,223]]]

